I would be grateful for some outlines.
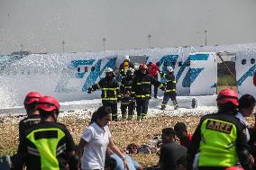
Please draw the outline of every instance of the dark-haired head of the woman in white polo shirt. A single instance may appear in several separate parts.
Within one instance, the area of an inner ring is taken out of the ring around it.
[[[111,113],[110,107],[99,107],[96,112],[93,113],[90,124],[96,122],[98,126],[104,128],[108,122],[111,121]]]

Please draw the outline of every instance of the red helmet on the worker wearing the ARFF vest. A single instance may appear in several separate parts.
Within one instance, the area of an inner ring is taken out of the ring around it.
[[[239,105],[238,94],[229,88],[220,91],[217,96],[217,103],[224,104],[224,103],[228,103],[228,102],[231,102],[236,106]]]

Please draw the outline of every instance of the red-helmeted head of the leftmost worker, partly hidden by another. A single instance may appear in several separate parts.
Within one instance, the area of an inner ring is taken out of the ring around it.
[[[40,97],[41,94],[38,92],[30,92],[26,95],[24,107],[29,116],[32,114],[39,114],[39,112],[36,111],[36,104],[38,103]]]

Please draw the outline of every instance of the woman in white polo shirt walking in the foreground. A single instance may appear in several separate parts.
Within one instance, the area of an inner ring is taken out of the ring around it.
[[[129,169],[126,158],[120,149],[114,145],[114,140],[107,126],[109,121],[111,121],[110,107],[101,106],[93,114],[87,130],[84,131],[78,144],[78,157],[81,160],[82,170],[103,170],[107,147],[111,148],[118,157],[121,157],[123,166]]]

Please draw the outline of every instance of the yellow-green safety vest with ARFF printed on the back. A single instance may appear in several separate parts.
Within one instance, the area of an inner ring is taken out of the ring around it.
[[[206,119],[201,126],[198,166],[229,167],[237,163],[236,126],[227,121]]]

